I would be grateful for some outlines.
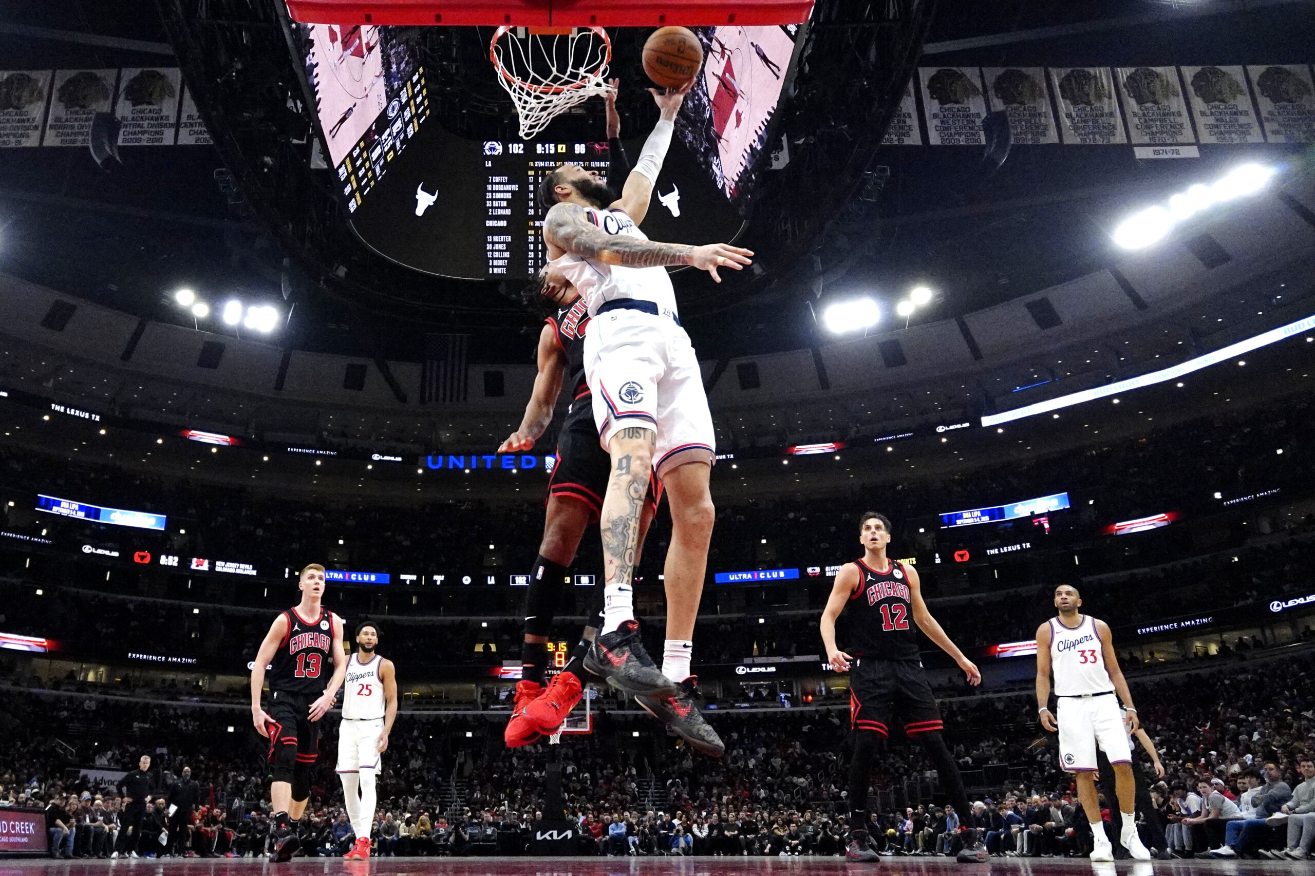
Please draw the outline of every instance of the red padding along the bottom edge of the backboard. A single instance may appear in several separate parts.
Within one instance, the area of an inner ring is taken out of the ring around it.
[[[287,0],[305,24],[601,26],[782,25],[807,21],[814,0]]]

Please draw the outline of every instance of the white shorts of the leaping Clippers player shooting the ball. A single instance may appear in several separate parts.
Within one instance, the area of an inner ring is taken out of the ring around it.
[[[654,471],[711,464],[717,434],[689,335],[675,320],[643,310],[605,310],[584,335],[585,380],[604,450],[619,429],[658,433]]]

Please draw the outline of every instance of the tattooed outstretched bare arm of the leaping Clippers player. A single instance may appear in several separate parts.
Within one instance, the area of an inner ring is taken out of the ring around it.
[[[753,255],[750,250],[709,243],[689,246],[685,243],[659,243],[638,237],[608,234],[585,217],[585,209],[579,204],[562,203],[548,210],[543,221],[543,237],[548,243],[585,259],[597,259],[606,264],[626,267],[658,267],[665,264],[693,264],[707,271],[718,283],[722,279],[717,268],[743,270]]]

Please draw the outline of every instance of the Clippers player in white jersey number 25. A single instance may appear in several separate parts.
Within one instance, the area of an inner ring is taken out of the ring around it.
[[[347,860],[370,858],[370,829],[375,823],[375,779],[388,751],[388,734],[397,718],[397,676],[393,662],[375,652],[379,627],[356,625],[356,652],[347,659],[347,681],[338,725],[338,779],[356,844]]]

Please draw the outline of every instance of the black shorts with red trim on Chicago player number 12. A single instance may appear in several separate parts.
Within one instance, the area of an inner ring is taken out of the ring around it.
[[[903,722],[910,738],[944,729],[922,663],[855,658],[849,669],[849,729],[889,737],[894,718]]]

